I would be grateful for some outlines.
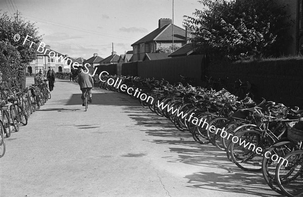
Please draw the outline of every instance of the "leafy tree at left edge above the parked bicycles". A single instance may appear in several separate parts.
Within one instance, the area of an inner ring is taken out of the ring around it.
[[[18,41],[14,36],[19,34]],[[30,36],[23,44],[26,36]],[[4,77],[23,78],[23,70],[36,58],[36,49],[42,41],[34,23],[9,17],[7,13],[0,16],[0,71]],[[35,44],[32,44],[34,42]],[[32,44],[32,45],[31,45]],[[30,46],[31,45],[31,46]]]

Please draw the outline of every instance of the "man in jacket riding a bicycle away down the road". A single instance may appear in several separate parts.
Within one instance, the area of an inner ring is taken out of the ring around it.
[[[89,102],[92,102],[91,99],[91,88],[93,87],[93,79],[91,76],[89,76],[89,73],[87,71],[86,67],[79,67],[80,69],[80,73],[78,74],[78,84],[80,85],[80,90],[82,91],[82,106],[85,106],[84,103],[84,94],[85,91],[87,90],[88,94],[89,94]]]

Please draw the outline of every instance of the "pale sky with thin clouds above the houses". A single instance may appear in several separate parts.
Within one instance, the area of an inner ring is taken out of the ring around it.
[[[174,6],[173,6],[174,1]],[[174,9],[173,9],[174,8]],[[184,28],[183,16],[202,10],[197,0],[0,0],[0,13],[36,22],[42,41],[71,57],[106,58],[132,50],[131,44],[158,28],[161,18],[173,17]]]

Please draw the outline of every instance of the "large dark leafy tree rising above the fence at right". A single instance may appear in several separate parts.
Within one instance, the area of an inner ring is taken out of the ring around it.
[[[198,52],[230,60],[279,55],[290,25],[285,5],[274,0],[203,0],[204,10],[184,16]]]

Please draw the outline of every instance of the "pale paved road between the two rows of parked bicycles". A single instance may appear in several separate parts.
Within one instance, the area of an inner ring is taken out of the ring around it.
[[[6,139],[0,196],[276,194],[262,174],[240,170],[138,101],[95,89],[85,112],[80,96],[75,83],[57,80],[52,99]]]

